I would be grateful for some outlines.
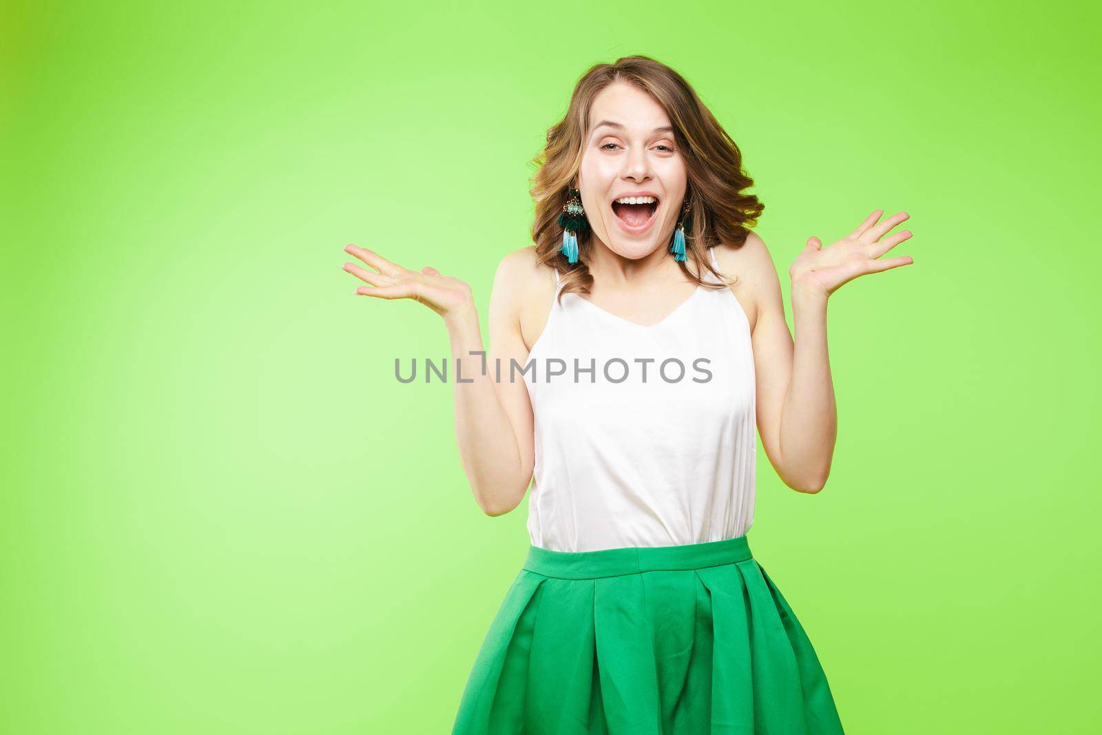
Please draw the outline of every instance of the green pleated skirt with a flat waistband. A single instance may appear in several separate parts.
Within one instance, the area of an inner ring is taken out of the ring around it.
[[[842,733],[827,675],[745,536],[530,547],[453,735]]]

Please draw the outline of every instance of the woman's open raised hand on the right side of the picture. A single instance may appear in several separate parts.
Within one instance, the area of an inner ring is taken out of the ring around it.
[[[825,298],[858,275],[915,262],[910,256],[878,260],[911,235],[910,230],[905,229],[880,240],[889,229],[910,217],[906,212],[900,212],[877,224],[883,214],[883,209],[875,210],[865,217],[857,229],[825,249],[818,237],[809,238],[807,247],[788,269],[793,291],[799,289],[821,293]]]

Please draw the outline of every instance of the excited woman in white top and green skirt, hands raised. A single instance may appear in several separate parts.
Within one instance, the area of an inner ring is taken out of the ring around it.
[[[753,181],[676,72],[645,56],[594,66],[537,162],[536,245],[498,267],[488,361],[465,283],[346,248],[374,269],[345,263],[372,287],[357,293],[443,316],[483,510],[509,512],[534,476],[528,559],[453,733],[841,733],[808,637],[749,552],[755,423],[786,485],[822,489],[827,301],[911,262],[878,260],[910,237],[884,237],[908,215],[808,240],[789,269],[793,346],[749,229]]]

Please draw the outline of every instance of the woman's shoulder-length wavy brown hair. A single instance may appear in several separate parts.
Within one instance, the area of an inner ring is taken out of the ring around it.
[[[547,145],[531,160],[537,166],[529,190],[536,201],[532,240],[537,259],[563,272],[560,299],[562,293],[571,291],[590,292],[593,230],[579,233],[577,262],[568,263],[559,251],[562,226],[558,218],[582,164],[590,136],[590,108],[597,94],[616,82],[627,82],[649,94],[666,109],[673,126],[674,141],[688,170],[685,196],[690,206],[687,260],[680,263],[681,270],[700,285],[726,288],[694,277],[688,259],[696,263],[698,273],[703,274],[706,269],[722,278],[709,262],[707,248],[721,242],[742,247],[765,205],[757,196],[744,193],[754,185],[754,180],[743,171],[743,155],[735,141],[680,74],[649,56],[624,56],[614,64],[596,64],[583,74],[574,86],[566,114],[548,130]]]

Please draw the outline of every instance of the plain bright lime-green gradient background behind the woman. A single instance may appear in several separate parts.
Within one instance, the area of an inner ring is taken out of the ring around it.
[[[445,733],[527,550],[460,466],[440,318],[528,160],[646,53],[745,153],[782,287],[906,209],[830,304],[818,496],[759,450],[750,544],[847,732],[1098,732],[1099,58],[1087,3],[101,2],[3,13],[0,731]],[[484,331],[485,334],[485,331]]]

